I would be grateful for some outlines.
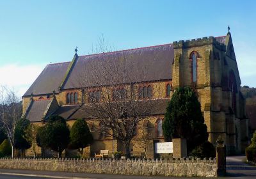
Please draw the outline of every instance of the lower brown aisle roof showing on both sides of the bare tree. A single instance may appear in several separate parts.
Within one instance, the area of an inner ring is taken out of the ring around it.
[[[152,113],[150,115],[164,114],[166,107],[170,101],[169,98],[157,99],[154,100],[152,106]],[[53,115],[60,115],[67,120],[76,120],[77,118],[92,119],[93,116],[93,105],[84,104],[84,105],[63,105]]]

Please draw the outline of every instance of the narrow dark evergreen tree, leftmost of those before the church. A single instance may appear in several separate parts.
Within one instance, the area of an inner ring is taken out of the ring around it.
[[[30,125],[29,120],[21,118],[14,132],[14,147],[22,151],[22,155],[26,149],[31,147],[31,142],[26,139],[26,130]]]

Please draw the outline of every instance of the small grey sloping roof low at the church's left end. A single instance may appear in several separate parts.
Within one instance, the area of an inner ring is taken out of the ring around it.
[[[28,112],[25,116],[29,121],[41,121],[44,117],[45,110],[47,109],[47,105],[51,103],[52,99],[45,100],[35,100],[31,103]]]

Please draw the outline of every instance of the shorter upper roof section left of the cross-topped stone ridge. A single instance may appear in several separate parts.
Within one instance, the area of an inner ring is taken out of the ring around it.
[[[36,78],[35,82],[29,87],[24,96],[49,94],[53,90],[58,91],[60,82],[67,72],[70,62],[54,63],[45,66],[41,74]]]

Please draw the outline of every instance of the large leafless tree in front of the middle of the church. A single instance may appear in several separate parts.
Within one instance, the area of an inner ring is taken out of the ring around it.
[[[157,111],[156,99],[163,97],[163,90],[148,82],[148,75],[157,79],[157,74],[150,72],[147,61],[141,68],[134,54],[108,52],[104,45],[104,40],[99,40],[98,49],[104,53],[84,60],[86,65],[76,74],[75,83],[81,88],[83,101],[89,103],[83,106],[84,111],[99,120],[101,132],[122,142],[129,156],[139,123]],[[140,58],[140,52],[135,56]]]

